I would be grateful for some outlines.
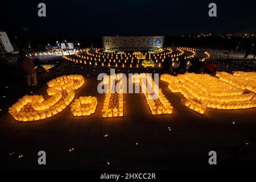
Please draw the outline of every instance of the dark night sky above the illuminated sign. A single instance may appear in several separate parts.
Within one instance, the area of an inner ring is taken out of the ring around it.
[[[46,18],[38,16],[40,2],[46,3]],[[217,17],[208,16],[210,2],[217,4]],[[26,27],[32,38],[253,33],[255,9],[255,2],[247,0],[3,0],[0,30],[22,37],[22,27]]]

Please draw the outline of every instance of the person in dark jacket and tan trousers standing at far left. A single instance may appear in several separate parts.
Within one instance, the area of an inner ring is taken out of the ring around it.
[[[34,68],[34,63],[32,59],[26,56],[26,53],[23,50],[19,50],[19,57],[17,59],[17,63],[24,73],[27,86],[38,85],[38,80],[36,80],[36,71]]]

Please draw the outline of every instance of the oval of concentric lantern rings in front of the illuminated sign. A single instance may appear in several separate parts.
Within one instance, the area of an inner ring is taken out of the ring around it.
[[[129,68],[138,68],[141,64],[141,61],[150,60],[152,63],[158,63],[158,67],[161,67],[161,64],[166,57],[171,57],[172,61],[179,60],[185,51],[191,52],[191,55],[185,56],[185,59],[189,59],[195,56],[195,51],[192,48],[178,47],[176,48],[176,53],[173,53],[171,48],[165,48],[164,51],[159,51],[151,53],[146,52],[142,53],[135,51],[133,53],[126,52],[101,52],[101,49],[94,49],[93,52],[89,48],[82,49],[80,52],[75,53],[76,57],[63,56],[64,59],[73,61],[75,63],[89,64],[89,65],[101,65],[108,67],[129,67]],[[80,54],[82,53],[82,54]],[[155,64],[150,64],[148,66],[154,67]],[[142,65],[144,66],[144,63]]]

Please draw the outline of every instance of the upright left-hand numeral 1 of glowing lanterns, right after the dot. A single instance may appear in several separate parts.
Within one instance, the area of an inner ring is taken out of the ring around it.
[[[122,117],[123,116],[123,78],[122,75],[104,76],[104,86],[107,86],[102,117]]]

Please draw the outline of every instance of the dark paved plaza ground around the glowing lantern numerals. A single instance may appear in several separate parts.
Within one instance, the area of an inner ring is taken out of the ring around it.
[[[4,92],[6,97],[1,104],[1,169],[247,169],[256,163],[256,109],[208,108],[201,115],[184,107],[184,97],[180,93],[171,93],[168,84],[160,81],[159,87],[174,106],[172,114],[152,115],[140,93],[124,94],[123,117],[102,118],[105,94],[97,92],[100,82],[97,75],[109,73],[109,68],[58,60],[65,63],[62,75],[81,74],[85,77],[85,84],[76,90],[75,98],[97,97],[96,113],[76,118],[67,107],[43,121],[17,122],[6,108],[24,94],[46,96],[47,84],[43,81],[37,88],[30,89],[21,86],[19,89],[22,83],[10,86]],[[158,69],[128,68],[116,68],[116,71],[159,72]],[[38,165],[38,151],[41,150],[47,154],[45,166]],[[208,163],[208,152],[212,150],[217,152],[216,166]],[[21,155],[23,157],[19,158]]]

